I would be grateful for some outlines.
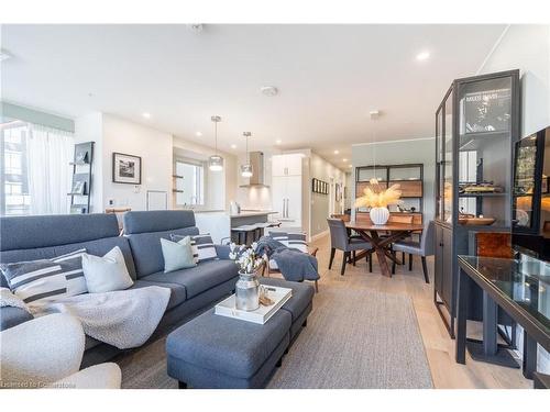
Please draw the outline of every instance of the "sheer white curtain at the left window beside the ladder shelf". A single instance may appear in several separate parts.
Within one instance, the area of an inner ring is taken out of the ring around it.
[[[31,214],[62,214],[70,209],[74,137],[69,132],[29,124],[26,165]]]

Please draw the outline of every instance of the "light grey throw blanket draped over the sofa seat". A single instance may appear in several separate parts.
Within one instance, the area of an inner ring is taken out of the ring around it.
[[[67,313],[80,321],[84,332],[98,341],[128,349],[143,345],[168,305],[170,290],[158,286],[84,293],[32,308],[35,315]]]

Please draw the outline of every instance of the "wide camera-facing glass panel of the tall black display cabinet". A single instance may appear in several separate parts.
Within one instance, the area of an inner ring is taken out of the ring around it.
[[[510,226],[512,76],[459,82],[459,213]],[[508,198],[509,199],[509,198]]]

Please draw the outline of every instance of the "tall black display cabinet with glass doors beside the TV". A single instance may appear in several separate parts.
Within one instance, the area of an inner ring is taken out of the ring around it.
[[[457,256],[475,254],[474,232],[510,232],[519,98],[519,70],[462,78],[436,112],[433,301],[453,338]],[[469,316],[481,320],[481,292],[470,296]]]

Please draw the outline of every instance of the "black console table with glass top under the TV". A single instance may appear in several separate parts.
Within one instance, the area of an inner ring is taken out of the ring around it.
[[[465,364],[468,294],[471,282],[483,290],[483,347],[480,360],[504,365],[509,355],[496,344],[496,307],[502,308],[524,329],[522,371],[528,379],[537,369],[537,344],[550,352],[550,277],[529,266],[521,270],[515,259],[459,256],[459,297],[457,316],[457,353]]]

